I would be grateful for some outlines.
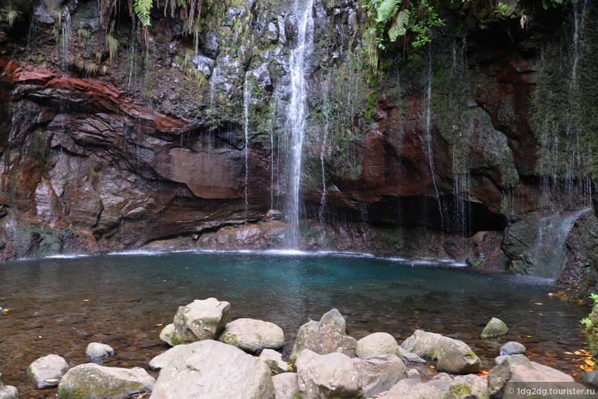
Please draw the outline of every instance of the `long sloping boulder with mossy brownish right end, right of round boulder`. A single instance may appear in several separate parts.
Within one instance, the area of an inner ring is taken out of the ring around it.
[[[480,358],[466,343],[434,332],[416,330],[401,347],[425,359],[436,361],[436,368],[441,372],[470,374],[479,372],[482,367]]]

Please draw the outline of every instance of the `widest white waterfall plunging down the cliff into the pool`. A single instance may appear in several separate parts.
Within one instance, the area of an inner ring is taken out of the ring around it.
[[[287,218],[291,225],[290,242],[298,247],[299,235],[299,185],[301,180],[301,152],[306,122],[307,81],[305,69],[307,58],[312,50],[313,0],[307,0],[300,8],[300,0],[295,1],[295,14],[298,19],[297,43],[291,50],[289,69],[291,74],[291,101],[287,109],[287,123],[290,133],[290,159],[288,176]]]

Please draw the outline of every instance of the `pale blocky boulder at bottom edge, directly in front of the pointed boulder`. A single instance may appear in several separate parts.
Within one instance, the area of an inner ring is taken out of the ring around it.
[[[359,373],[353,360],[346,354],[317,354],[305,349],[298,354],[295,365],[302,398],[359,396]]]

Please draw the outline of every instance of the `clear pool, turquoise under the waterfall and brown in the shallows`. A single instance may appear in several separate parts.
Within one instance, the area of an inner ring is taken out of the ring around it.
[[[89,342],[108,343],[116,357],[104,365],[147,367],[168,346],[162,326],[180,305],[216,297],[231,303],[231,319],[250,317],[285,330],[288,355],[299,326],[338,308],[359,339],[389,332],[399,343],[415,329],[469,344],[494,365],[500,345],[520,341],[539,361],[568,374],[581,371],[579,320],[587,308],[549,297],[546,280],[480,275],[450,262],[377,258],[347,253],[120,253],[0,264],[0,373],[21,398],[54,397],[30,389],[25,371],[47,354],[85,363]],[[479,338],[498,317],[509,334]]]

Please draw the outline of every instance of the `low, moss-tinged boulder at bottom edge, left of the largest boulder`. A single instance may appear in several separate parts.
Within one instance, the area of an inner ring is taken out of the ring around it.
[[[155,380],[141,367],[124,369],[96,363],[75,366],[58,385],[58,399],[126,399],[149,393]]]

